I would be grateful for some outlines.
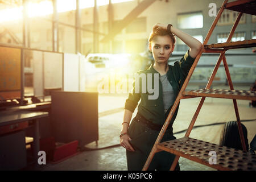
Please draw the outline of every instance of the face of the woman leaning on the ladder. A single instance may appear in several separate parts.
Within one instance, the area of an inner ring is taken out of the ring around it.
[[[168,35],[156,35],[149,45],[149,49],[156,62],[167,63],[172,51],[174,51],[174,45]]]

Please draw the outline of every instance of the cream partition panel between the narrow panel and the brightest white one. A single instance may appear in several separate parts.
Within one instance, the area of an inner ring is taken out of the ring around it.
[[[62,88],[62,54],[44,52],[44,88]]]

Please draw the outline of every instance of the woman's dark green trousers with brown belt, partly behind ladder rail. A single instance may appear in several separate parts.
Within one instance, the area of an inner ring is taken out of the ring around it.
[[[147,157],[154,146],[156,138],[158,138],[160,131],[152,130],[135,121],[131,122],[128,134],[131,137],[130,144],[134,148],[134,152],[126,150],[127,168],[129,171],[141,171],[146,163]],[[161,142],[176,139],[172,133],[172,129],[166,130]],[[155,153],[148,171],[168,171],[171,168],[175,155],[166,151]],[[175,171],[179,171],[179,163]]]

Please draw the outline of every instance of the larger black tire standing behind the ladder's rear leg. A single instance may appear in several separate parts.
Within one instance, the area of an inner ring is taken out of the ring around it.
[[[246,150],[249,151],[247,129],[245,125],[243,125],[242,123],[241,123],[241,126],[243,130],[243,137],[245,138]],[[243,150],[240,134],[238,131],[237,121],[229,121],[224,125],[222,129],[221,137],[220,137],[220,145],[236,148],[238,150]]]

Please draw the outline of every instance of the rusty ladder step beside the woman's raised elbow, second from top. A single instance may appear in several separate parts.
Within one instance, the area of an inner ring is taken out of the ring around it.
[[[256,47],[256,39],[204,45],[204,49],[237,49],[247,47]]]

